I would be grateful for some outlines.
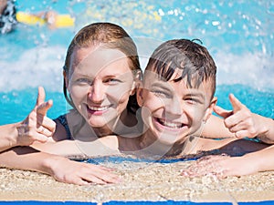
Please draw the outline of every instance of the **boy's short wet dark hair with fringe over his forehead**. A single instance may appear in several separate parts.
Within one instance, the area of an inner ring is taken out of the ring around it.
[[[174,39],[158,46],[150,57],[145,71],[153,71],[168,81],[175,69],[182,69],[188,87],[199,87],[210,80],[212,97],[216,90],[216,65],[205,46],[188,39]]]

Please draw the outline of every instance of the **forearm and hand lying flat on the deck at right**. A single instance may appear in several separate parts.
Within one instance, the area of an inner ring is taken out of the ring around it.
[[[195,161],[183,175],[198,177],[215,174],[218,177],[243,176],[260,171],[274,170],[274,145],[241,157],[207,156]]]

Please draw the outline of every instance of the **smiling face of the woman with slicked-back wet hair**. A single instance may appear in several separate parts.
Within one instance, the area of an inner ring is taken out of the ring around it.
[[[119,118],[134,90],[128,58],[101,46],[76,48],[71,56],[67,88],[75,107],[93,128]]]

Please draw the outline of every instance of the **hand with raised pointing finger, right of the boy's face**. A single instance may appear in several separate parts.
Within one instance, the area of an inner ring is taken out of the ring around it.
[[[216,106],[214,111],[224,118],[224,123],[236,138],[254,138],[263,132],[263,127],[256,114],[243,105],[233,94],[229,95],[233,110],[226,110]]]

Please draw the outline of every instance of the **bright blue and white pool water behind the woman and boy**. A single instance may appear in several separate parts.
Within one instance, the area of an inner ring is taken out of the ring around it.
[[[58,30],[18,25],[15,32],[0,36],[0,124],[25,118],[35,105],[38,86],[46,88],[47,99],[54,99],[49,117],[68,110],[61,93],[66,49],[80,27],[98,21],[119,24],[134,39],[201,39],[216,60],[218,105],[229,108],[227,96],[233,92],[252,111],[274,118],[273,1],[17,0],[16,5],[25,12],[70,14],[76,25]]]

